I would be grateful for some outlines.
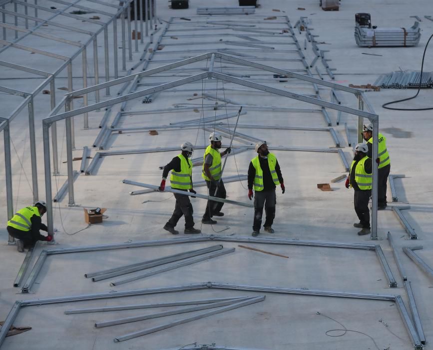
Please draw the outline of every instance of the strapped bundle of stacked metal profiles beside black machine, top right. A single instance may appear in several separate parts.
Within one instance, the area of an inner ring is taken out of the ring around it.
[[[358,46],[417,46],[421,38],[419,22],[410,28],[368,28],[355,26],[355,40]]]

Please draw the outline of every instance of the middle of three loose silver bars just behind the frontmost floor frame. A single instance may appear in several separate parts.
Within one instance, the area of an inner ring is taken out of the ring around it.
[[[116,277],[116,276],[120,276],[122,274],[127,274],[127,273],[131,273],[131,272],[135,272],[135,271],[141,271],[141,270],[144,270],[147,268],[163,265],[163,264],[166,264],[169,262],[179,261],[179,260],[183,260],[183,259],[186,259],[189,257],[193,257],[193,256],[201,255],[201,254],[206,254],[208,252],[221,250],[222,248],[223,248],[223,246],[221,244],[218,244],[218,245],[212,245],[212,246],[204,248],[204,249],[185,251],[181,254],[169,255],[169,256],[162,257],[160,259],[154,259],[151,261],[142,261],[140,263],[135,263],[135,264],[129,265],[129,266],[120,266],[119,268],[116,269],[116,271],[113,271],[113,272],[108,272],[108,273],[104,273],[104,274],[100,274],[99,272],[95,272],[97,275],[94,275],[94,277],[91,277],[91,278],[92,278],[92,282],[96,282],[98,280]],[[93,273],[93,274],[95,274],[95,273]]]

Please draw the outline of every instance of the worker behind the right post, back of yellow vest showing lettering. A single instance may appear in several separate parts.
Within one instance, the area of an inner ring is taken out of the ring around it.
[[[373,153],[373,125],[365,124],[363,128],[364,139],[367,141],[369,151],[367,155],[371,158]],[[387,138],[378,133],[378,209],[387,207],[387,181],[391,170],[390,154],[387,149]]]

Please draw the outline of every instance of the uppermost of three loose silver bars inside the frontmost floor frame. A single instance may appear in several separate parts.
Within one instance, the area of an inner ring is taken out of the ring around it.
[[[237,300],[239,298],[240,297],[227,297],[227,298],[216,298],[216,299],[200,299],[200,300],[187,300],[187,301],[160,302],[160,303],[156,303],[156,304],[133,304],[133,305],[121,305],[121,306],[77,308],[77,309],[72,309],[72,310],[65,310],[64,314],[136,310],[136,309],[140,309],[140,308],[208,304],[208,303],[212,303],[212,302],[219,302],[219,301],[226,301],[226,300]]]

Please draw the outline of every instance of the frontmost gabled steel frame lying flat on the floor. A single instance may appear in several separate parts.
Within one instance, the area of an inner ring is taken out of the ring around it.
[[[318,290],[318,289],[297,289],[297,288],[280,288],[280,287],[266,287],[266,286],[254,286],[254,285],[237,285],[237,284],[225,284],[220,282],[202,282],[189,285],[176,285],[169,287],[159,288],[145,288],[145,289],[134,289],[126,291],[110,291],[104,293],[95,294],[81,294],[75,296],[63,296],[56,298],[45,298],[45,299],[34,299],[34,300],[17,300],[13,304],[9,314],[7,315],[3,326],[0,329],[0,346],[7,334],[7,330],[12,325],[18,315],[21,307],[24,306],[35,306],[44,304],[54,304],[62,302],[75,302],[83,300],[97,300],[106,298],[117,298],[124,296],[136,296],[136,295],[147,295],[155,293],[167,293],[176,291],[187,291],[187,290],[203,290],[203,289],[228,289],[228,290],[242,290],[242,291],[253,291],[253,292],[265,292],[265,293],[279,293],[279,294],[296,294],[296,295],[311,295],[311,296],[327,296],[327,297],[341,297],[341,298],[356,298],[365,300],[383,300],[395,302],[403,323],[406,326],[409,337],[414,345],[415,350],[422,350],[423,344],[421,343],[420,337],[411,321],[409,313],[403,303],[403,299],[400,295],[389,295],[389,294],[367,294],[367,293],[350,293],[341,291],[329,291],[329,290]]]

